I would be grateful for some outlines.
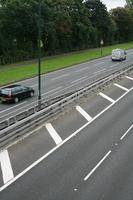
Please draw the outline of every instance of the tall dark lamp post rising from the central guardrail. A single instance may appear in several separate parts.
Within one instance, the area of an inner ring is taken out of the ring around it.
[[[41,0],[38,3],[38,106],[41,108]]]

